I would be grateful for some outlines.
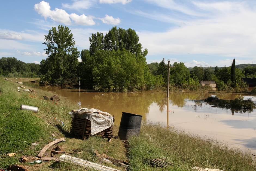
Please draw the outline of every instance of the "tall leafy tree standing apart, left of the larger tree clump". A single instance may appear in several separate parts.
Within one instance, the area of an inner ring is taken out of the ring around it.
[[[41,62],[43,69],[42,81],[54,85],[75,83],[77,80],[77,66],[79,51],[75,48],[75,41],[71,30],[67,26],[52,27],[44,36],[43,44],[47,46],[48,58]]]

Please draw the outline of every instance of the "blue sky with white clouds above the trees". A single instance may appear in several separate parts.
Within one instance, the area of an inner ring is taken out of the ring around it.
[[[29,63],[47,58],[44,35],[58,25],[71,29],[79,51],[89,49],[92,33],[117,26],[137,32],[148,63],[256,63],[256,1],[2,1],[0,15],[0,57]]]

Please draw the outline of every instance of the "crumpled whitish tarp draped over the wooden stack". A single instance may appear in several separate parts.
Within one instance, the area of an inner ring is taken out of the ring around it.
[[[95,112],[99,112],[99,114]],[[102,112],[99,109],[81,108],[76,110],[75,112],[69,112],[69,114],[72,118],[74,117],[74,114],[77,114],[77,117],[81,119],[90,120],[92,129],[91,135],[95,135],[96,133],[99,133],[114,125],[112,115],[107,112]]]

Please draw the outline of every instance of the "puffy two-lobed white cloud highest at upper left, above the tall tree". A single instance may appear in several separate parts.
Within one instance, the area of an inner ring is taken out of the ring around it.
[[[51,10],[48,2],[41,1],[38,4],[35,4],[34,9],[38,14],[41,14],[44,19],[50,17],[55,22],[64,23],[66,25],[71,24],[69,14],[65,10],[59,8]]]

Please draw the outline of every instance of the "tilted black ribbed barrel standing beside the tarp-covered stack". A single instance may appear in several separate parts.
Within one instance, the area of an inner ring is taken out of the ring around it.
[[[141,115],[122,112],[118,136],[121,140],[127,140],[130,136],[139,135],[141,130]]]

